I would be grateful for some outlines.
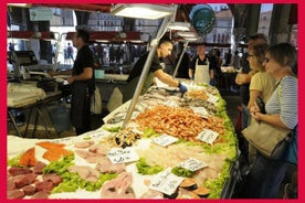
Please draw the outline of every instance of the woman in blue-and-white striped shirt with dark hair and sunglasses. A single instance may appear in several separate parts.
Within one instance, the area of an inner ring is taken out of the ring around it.
[[[294,129],[297,125],[297,78],[292,72],[296,57],[295,49],[287,43],[267,49],[263,64],[266,73],[274,76],[276,88],[265,105],[266,114],[260,111],[256,103],[251,107],[251,116],[256,121],[285,129]],[[286,168],[285,161],[267,159],[257,151],[241,197],[278,197]]]

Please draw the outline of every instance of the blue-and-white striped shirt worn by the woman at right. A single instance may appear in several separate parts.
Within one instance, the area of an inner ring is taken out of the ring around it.
[[[297,105],[297,78],[285,76],[277,84],[277,87],[265,105],[265,109],[270,115],[280,115],[282,122],[290,129],[293,129],[298,122]]]

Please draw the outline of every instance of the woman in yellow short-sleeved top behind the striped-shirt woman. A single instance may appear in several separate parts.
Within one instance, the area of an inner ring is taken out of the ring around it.
[[[248,104],[249,109],[251,109],[251,107],[254,105],[254,101],[257,97],[261,97],[263,101],[266,103],[274,92],[275,79],[270,73],[265,72],[265,67],[263,65],[265,60],[265,51],[267,47],[269,45],[263,43],[255,44],[254,46],[249,49],[248,61],[250,64],[250,68],[253,72],[256,72],[252,76],[250,82],[250,99]],[[251,121],[251,116],[248,120]],[[248,157],[250,164],[253,163],[255,151],[256,150],[250,145]]]

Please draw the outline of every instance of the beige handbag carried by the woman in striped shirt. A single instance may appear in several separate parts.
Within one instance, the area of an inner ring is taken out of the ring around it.
[[[270,159],[282,159],[293,137],[292,130],[256,120],[242,133],[259,152]]]

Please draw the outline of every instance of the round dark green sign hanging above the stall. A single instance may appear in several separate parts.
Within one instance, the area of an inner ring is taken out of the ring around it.
[[[193,7],[189,17],[199,35],[207,35],[214,28],[215,13],[209,4]]]

